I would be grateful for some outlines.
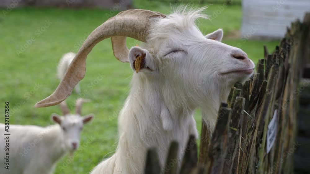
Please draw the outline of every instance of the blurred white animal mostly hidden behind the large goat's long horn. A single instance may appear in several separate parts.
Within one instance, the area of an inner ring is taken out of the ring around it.
[[[64,78],[64,74],[66,74],[66,71],[70,63],[72,62],[73,58],[75,57],[75,55],[76,55],[75,53],[69,52],[69,53],[64,54],[61,57],[59,64],[57,66],[57,76],[60,81]],[[80,88],[79,83],[75,86],[74,90],[78,94],[81,93],[81,88]]]

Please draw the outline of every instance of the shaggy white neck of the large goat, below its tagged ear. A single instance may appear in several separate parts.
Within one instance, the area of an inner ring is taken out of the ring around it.
[[[121,151],[128,152],[142,144],[141,153],[133,153],[133,158],[144,160],[146,149],[157,147],[159,159],[164,161],[171,141],[178,141],[183,149],[188,135],[197,135],[193,110],[174,107],[165,101],[167,96],[162,95],[160,88],[157,82],[143,79],[139,74],[133,77],[130,94],[119,117],[119,144],[124,148]]]

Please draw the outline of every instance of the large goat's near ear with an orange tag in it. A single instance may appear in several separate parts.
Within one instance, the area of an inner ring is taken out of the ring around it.
[[[156,63],[153,57],[146,49],[132,47],[129,51],[129,63],[136,73],[144,70],[155,70]]]

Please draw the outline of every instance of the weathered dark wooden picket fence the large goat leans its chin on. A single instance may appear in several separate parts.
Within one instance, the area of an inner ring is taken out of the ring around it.
[[[299,79],[305,58],[310,58],[309,45],[310,13],[303,23],[292,23],[274,53],[264,47],[254,76],[244,85],[235,84],[227,104],[221,104],[212,138],[202,123],[199,161],[195,138],[189,138],[179,173],[293,173],[294,151],[302,146],[296,142],[299,95],[304,89]],[[178,172],[177,165],[170,165],[177,149],[173,142],[165,174]],[[150,149],[145,173],[161,172],[156,150]]]

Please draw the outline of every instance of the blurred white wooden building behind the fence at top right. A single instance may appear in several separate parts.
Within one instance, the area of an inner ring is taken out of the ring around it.
[[[286,27],[310,12],[310,0],[242,0],[241,37],[281,38]]]

